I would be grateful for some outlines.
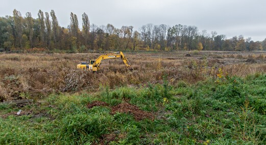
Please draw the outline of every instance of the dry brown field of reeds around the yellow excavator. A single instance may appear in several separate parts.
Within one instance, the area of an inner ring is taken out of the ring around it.
[[[186,54],[191,57],[186,57]],[[97,73],[76,68],[101,54],[0,54],[0,101],[37,99],[50,93],[96,92],[102,86],[195,83],[224,74],[246,77],[266,72],[266,52],[127,53],[132,71],[120,59],[103,60]]]

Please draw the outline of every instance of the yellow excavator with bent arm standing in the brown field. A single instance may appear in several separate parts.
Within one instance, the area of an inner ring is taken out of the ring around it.
[[[124,61],[124,63],[126,64],[127,68],[132,70],[130,68],[130,63],[129,63],[128,59],[125,57],[125,55],[122,52],[104,54],[104,55],[99,56],[95,60],[89,60],[88,62],[81,62],[80,64],[77,65],[77,68],[88,69],[88,70],[92,70],[92,71],[98,71],[100,69],[100,64],[101,64],[102,60],[112,59],[112,58],[121,58]]]

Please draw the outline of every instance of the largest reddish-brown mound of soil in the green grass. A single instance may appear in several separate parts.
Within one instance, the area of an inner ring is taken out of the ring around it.
[[[137,106],[131,105],[129,103],[122,103],[122,104],[119,104],[117,106],[114,106],[112,108],[111,114],[115,114],[116,112],[133,114],[133,116],[136,120],[141,120],[144,118],[149,118],[149,119],[154,118],[151,113],[142,111],[142,110],[138,109]]]

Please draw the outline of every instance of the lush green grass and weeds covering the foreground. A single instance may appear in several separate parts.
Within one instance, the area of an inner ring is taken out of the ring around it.
[[[88,109],[93,101],[109,105]],[[111,114],[124,102],[154,119]],[[19,109],[28,114],[15,115]],[[1,104],[0,115],[0,144],[266,144],[266,75],[101,86],[95,94],[52,94],[23,107]]]

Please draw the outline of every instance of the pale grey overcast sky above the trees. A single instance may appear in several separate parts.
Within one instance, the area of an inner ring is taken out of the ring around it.
[[[266,38],[265,0],[0,0],[0,16],[12,16],[13,10],[23,17],[31,12],[38,17],[54,10],[61,27],[70,23],[70,12],[76,14],[82,24],[85,12],[90,24],[112,24],[115,28],[133,26],[139,30],[143,25],[177,24],[196,26],[199,31],[216,31],[227,38],[243,35],[254,41]]]

